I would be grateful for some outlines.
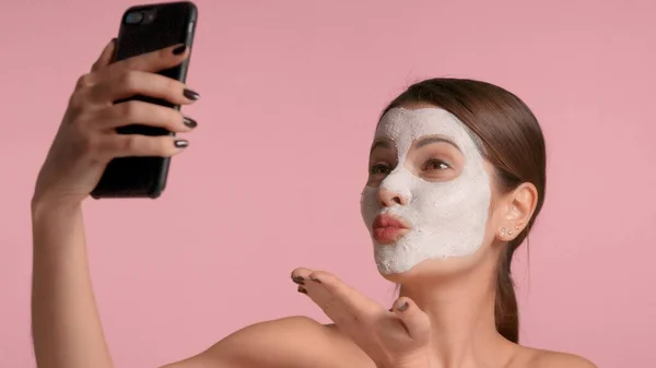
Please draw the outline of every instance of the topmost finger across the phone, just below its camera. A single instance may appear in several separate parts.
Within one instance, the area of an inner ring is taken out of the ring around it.
[[[117,61],[103,72],[108,75],[121,73],[126,70],[156,73],[178,66],[187,57],[189,57],[189,47],[185,44],[178,44]]]

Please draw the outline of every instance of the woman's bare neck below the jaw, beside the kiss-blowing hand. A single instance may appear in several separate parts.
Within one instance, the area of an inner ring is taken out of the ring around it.
[[[400,296],[414,300],[431,319],[435,367],[479,367],[483,363],[499,367],[509,358],[513,344],[496,332],[494,323],[495,281],[490,277],[494,266],[481,269],[401,286]]]

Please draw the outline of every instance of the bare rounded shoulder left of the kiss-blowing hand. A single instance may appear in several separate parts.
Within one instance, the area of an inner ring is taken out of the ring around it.
[[[366,360],[333,327],[297,316],[248,325],[165,368],[350,368],[367,367]]]

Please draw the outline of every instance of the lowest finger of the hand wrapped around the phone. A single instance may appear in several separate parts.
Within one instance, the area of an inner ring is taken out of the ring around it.
[[[171,135],[107,134],[99,140],[98,151],[105,158],[128,156],[171,157],[189,145],[187,140]]]

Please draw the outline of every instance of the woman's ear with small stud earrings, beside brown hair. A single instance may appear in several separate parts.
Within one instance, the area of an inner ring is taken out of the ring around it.
[[[506,193],[501,202],[501,226],[495,237],[511,241],[528,226],[538,203],[538,190],[532,183],[525,182]]]

